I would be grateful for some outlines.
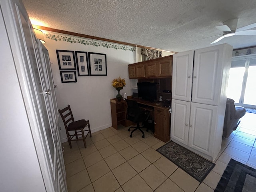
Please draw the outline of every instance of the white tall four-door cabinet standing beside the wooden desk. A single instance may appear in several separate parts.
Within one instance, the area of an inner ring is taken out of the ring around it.
[[[171,140],[214,161],[220,152],[232,46],[174,54]]]

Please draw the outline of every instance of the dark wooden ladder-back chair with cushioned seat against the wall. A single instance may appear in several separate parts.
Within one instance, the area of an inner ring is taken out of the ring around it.
[[[64,108],[62,110],[59,109],[58,111],[60,113],[60,116],[63,120],[65,129],[66,129],[68,144],[69,144],[70,148],[72,148],[71,141],[77,141],[77,140],[82,140],[84,142],[84,147],[86,148],[85,139],[86,139],[88,133],[90,134],[90,137],[92,137],[89,120],[86,121],[84,119],[81,119],[78,121],[74,121],[74,117],[73,117],[70,105],[68,105],[66,108]],[[88,127],[88,129],[84,130],[84,128],[86,128],[86,127]],[[85,135],[84,132],[86,132],[86,131],[88,131],[88,132]],[[72,133],[74,133],[74,134],[72,134]],[[78,136],[82,136],[82,139],[79,139]]]

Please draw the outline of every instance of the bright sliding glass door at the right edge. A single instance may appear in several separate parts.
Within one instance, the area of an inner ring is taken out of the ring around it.
[[[236,106],[256,108],[256,55],[232,58],[226,94]]]

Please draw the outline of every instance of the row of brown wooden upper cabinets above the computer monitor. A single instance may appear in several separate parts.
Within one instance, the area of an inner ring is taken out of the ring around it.
[[[161,78],[172,76],[172,55],[128,65],[129,78]]]

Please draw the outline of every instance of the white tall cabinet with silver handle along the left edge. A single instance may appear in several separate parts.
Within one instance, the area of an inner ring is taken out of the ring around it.
[[[0,0],[0,188],[67,192],[47,49],[19,0]]]

